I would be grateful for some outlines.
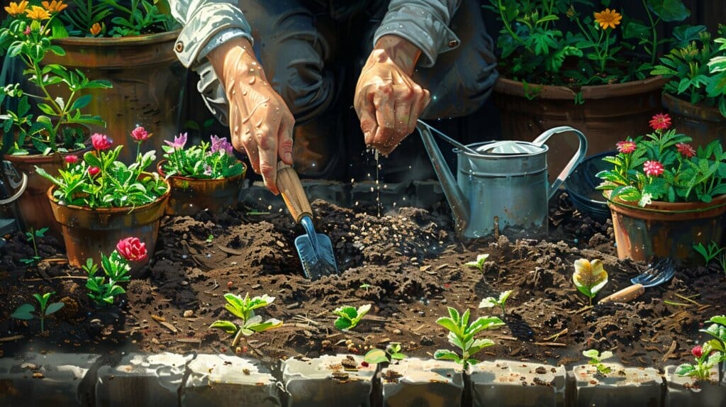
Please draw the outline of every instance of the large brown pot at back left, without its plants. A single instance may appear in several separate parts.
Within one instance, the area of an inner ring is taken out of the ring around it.
[[[176,133],[187,82],[187,68],[174,54],[180,30],[121,38],[68,37],[54,41],[65,56],[46,54],[44,63],[81,70],[89,79],[106,79],[113,89],[89,89],[93,100],[83,112],[99,115],[106,128],[91,126],[126,147],[119,160],[132,163],[136,141],[131,130],[144,126],[154,136],[142,152],[161,151],[163,138]]]

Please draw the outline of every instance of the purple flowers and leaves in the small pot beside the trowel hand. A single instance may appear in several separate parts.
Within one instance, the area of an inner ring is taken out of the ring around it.
[[[245,165],[234,157],[232,144],[227,137],[212,135],[211,142],[186,147],[187,133],[174,136],[174,141],[164,140],[164,161],[161,170],[166,176],[219,179],[237,176],[245,172]]]

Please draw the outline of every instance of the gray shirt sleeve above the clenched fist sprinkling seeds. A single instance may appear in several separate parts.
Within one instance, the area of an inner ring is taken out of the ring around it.
[[[405,38],[421,50],[419,64],[431,67],[439,54],[459,46],[459,38],[449,29],[459,4],[461,0],[391,0],[373,44],[387,34]]]

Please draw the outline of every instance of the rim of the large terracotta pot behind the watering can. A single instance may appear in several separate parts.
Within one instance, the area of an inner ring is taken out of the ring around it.
[[[663,88],[667,81],[669,81],[668,78],[663,78],[661,75],[658,75],[640,81],[613,83],[611,85],[581,86],[579,93],[583,99],[605,99],[616,96],[629,96],[648,91],[656,91]],[[539,83],[528,83],[528,86],[535,87],[537,90],[537,96],[534,99],[572,100],[577,96],[577,92],[568,86],[541,85]],[[494,92],[521,97],[526,97],[527,95],[527,92],[524,91],[523,82],[513,81],[512,79],[502,78],[501,76],[494,82]]]

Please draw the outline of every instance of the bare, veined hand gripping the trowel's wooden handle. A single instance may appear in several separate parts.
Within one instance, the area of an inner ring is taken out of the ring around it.
[[[229,131],[235,149],[248,155],[273,194],[277,189],[277,156],[293,165],[295,118],[282,96],[269,86],[250,41],[234,38],[208,54],[229,102]]]

